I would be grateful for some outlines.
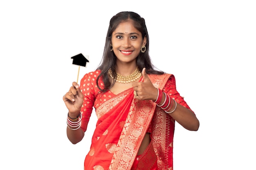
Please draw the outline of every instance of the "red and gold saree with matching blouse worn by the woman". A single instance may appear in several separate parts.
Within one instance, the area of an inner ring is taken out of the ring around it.
[[[132,88],[117,95],[110,91],[99,94],[96,85],[99,73],[99,70],[90,72],[81,80],[81,91],[85,95],[81,108],[83,131],[87,129],[92,107],[96,109],[98,118],[90,151],[85,157],[84,169],[145,170],[145,167],[149,170],[172,169],[175,120],[151,100],[135,99]],[[173,75],[148,76],[155,87],[163,89],[178,103],[189,108],[176,91]],[[99,84],[103,85],[102,80],[99,81]],[[150,122],[152,129],[150,146],[144,154],[137,156]],[[146,156],[151,160],[146,159]]]

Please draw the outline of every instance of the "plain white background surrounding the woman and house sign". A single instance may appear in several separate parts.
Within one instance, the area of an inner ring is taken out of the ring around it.
[[[168,2],[168,4],[166,4]],[[176,124],[174,170],[255,170],[256,6],[253,0],[6,0],[0,2],[0,169],[83,170],[96,117],[76,145],[63,95],[72,57],[95,70],[110,18],[144,17],[154,65],[175,75],[200,120]]]

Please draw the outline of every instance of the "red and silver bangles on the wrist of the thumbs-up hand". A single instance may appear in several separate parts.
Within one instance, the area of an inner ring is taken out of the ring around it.
[[[177,108],[177,102],[172,98],[170,98],[170,96],[168,96],[165,92],[162,92],[162,90],[157,89],[158,90],[158,94],[157,94],[157,100],[155,100],[155,103],[157,104],[157,106],[161,107],[166,113],[173,113],[176,108]],[[159,105],[159,103],[162,100],[162,96],[165,96],[164,102],[162,105]],[[175,102],[175,107],[172,111],[169,111],[172,107],[173,107],[173,101]]]

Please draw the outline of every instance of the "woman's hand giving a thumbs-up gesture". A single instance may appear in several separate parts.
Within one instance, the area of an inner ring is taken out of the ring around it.
[[[139,100],[153,100],[157,99],[157,88],[151,83],[148,75],[146,74],[146,68],[142,70],[142,76],[144,78],[144,82],[134,82],[132,83],[132,87],[134,91],[137,92],[137,96],[135,98]]]

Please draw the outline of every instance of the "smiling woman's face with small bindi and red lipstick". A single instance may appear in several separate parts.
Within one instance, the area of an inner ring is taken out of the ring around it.
[[[136,63],[141,46],[146,45],[146,37],[142,38],[132,21],[121,22],[112,33],[111,41],[117,62]]]

